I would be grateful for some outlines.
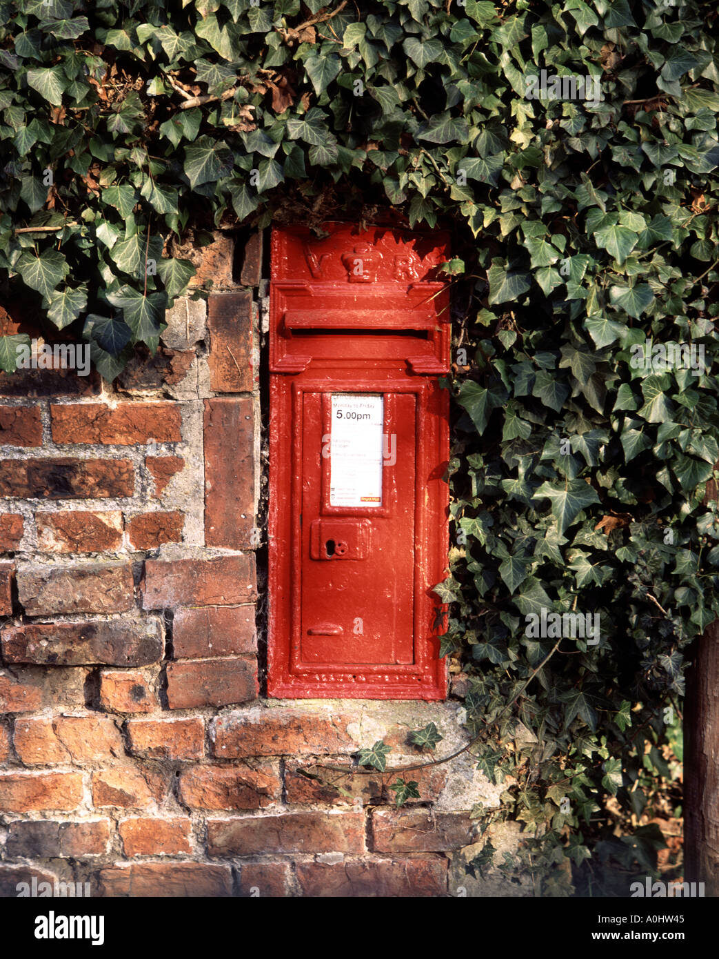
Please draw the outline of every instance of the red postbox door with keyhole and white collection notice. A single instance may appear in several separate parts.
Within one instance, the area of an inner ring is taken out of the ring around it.
[[[416,402],[303,393],[302,664],[413,662]]]

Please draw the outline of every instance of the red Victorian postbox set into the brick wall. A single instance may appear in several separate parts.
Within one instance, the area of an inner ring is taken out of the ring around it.
[[[444,234],[272,234],[267,690],[444,699]]]

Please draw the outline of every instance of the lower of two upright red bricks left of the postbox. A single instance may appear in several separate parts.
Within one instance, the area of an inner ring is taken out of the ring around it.
[[[252,400],[205,400],[205,544],[244,550],[254,526]],[[232,456],[227,451],[232,450]]]

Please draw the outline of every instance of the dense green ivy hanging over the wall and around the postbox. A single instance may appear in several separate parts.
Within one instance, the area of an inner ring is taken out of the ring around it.
[[[468,362],[446,381],[442,649],[468,677],[480,767],[511,777],[523,866],[551,892],[542,871],[578,868],[611,832],[608,797],[643,813],[645,753],[660,755],[686,646],[719,610],[719,522],[702,504],[719,439],[713,5],[0,12],[0,277],[58,328],[77,323],[107,379],[135,344],[156,347],[193,273],[173,255],[191,227],[316,227],[382,205],[452,226]],[[541,69],[595,78],[601,99],[527,99]],[[646,339],[703,347],[704,368],[640,370]],[[599,615],[600,642],[552,652],[524,630],[543,609]],[[383,770],[387,751],[360,762]],[[645,864],[656,837],[606,842]]]

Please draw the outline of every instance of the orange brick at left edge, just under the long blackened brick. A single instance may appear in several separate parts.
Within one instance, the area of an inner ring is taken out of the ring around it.
[[[85,669],[13,667],[0,669],[0,713],[33,713],[35,710],[84,705]]]

